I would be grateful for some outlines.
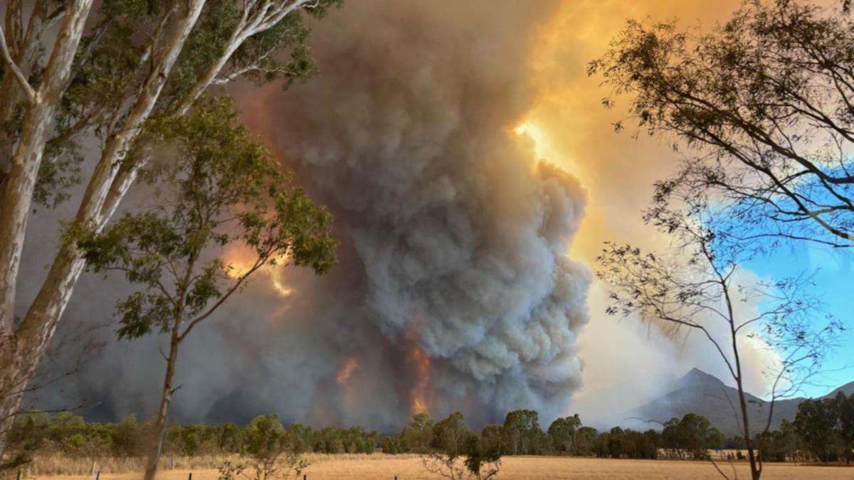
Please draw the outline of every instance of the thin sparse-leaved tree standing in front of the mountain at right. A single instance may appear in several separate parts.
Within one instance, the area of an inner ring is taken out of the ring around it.
[[[734,414],[755,480],[762,461],[753,445],[758,432],[750,428],[744,343],[753,341],[779,357],[759,366],[770,383],[764,434],[775,401],[798,394],[820,372],[844,327],[822,314],[822,302],[810,294],[810,278],[762,280],[745,274],[741,266],[754,250],[728,234],[730,220],[712,205],[696,201],[681,209],[652,208],[646,221],[669,236],[669,248],[645,253],[606,243],[596,258],[597,276],[611,287],[605,312],[636,314],[670,335],[695,332],[711,344],[738,390]]]

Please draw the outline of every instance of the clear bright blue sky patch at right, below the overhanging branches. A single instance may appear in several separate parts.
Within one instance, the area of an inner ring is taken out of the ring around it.
[[[743,264],[763,277],[787,277],[798,272],[813,272],[816,295],[825,310],[842,320],[846,331],[840,346],[828,358],[826,372],[816,378],[819,385],[807,386],[810,396],[825,395],[835,387],[854,381],[854,249],[834,249],[815,243],[785,244],[773,255],[759,257]]]

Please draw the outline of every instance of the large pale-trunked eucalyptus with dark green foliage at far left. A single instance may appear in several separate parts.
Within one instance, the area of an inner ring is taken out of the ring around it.
[[[150,120],[187,114],[205,91],[239,78],[285,85],[306,78],[314,65],[303,14],[319,17],[336,3],[104,0],[91,9],[91,0],[36,0],[28,19],[23,0],[6,3],[0,143],[11,148],[0,149],[0,454],[85,269],[79,245],[61,243],[35,298],[15,305],[33,202],[67,200],[86,160],[79,143],[96,138],[94,169],[64,225],[102,230],[149,161],[132,152],[144,150]]]

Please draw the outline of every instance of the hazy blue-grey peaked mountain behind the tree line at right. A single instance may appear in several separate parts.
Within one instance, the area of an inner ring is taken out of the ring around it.
[[[832,398],[840,391],[851,395],[854,393],[854,382],[846,383],[821,398]],[[699,413],[709,419],[724,435],[734,436],[740,434],[741,430],[738,398],[737,389],[694,368],[676,380],[667,394],[624,413],[623,419],[640,419],[641,423],[666,422],[674,417],[681,418],[686,413]],[[804,400],[798,397],[775,401],[771,428],[777,428],[782,419],[794,419],[798,405]],[[746,401],[751,432],[764,430],[769,417],[769,402],[748,393]]]

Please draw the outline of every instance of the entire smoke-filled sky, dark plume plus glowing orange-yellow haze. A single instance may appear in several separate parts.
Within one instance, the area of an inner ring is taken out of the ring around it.
[[[231,93],[335,215],[340,265],[324,278],[260,272],[194,331],[172,419],[273,412],[390,430],[424,410],[483,424],[518,407],[584,419],[627,411],[693,366],[723,378],[700,339],[674,342],[603,313],[591,262],[605,240],[659,246],[640,214],[676,159],[612,131],[620,105],[601,107],[607,92],[585,64],[629,18],[701,28],[736,5],[352,0],[331,11],[311,34],[318,76]],[[43,214],[31,231],[55,220]],[[44,264],[42,251],[28,247],[31,265]],[[850,259],[833,261],[851,278]],[[763,276],[773,265],[751,267]],[[109,318],[126,290],[109,282],[80,282],[67,325]],[[39,401],[152,413],[160,340],[108,345]],[[747,349],[758,372],[767,354]],[[748,383],[762,395],[758,373]]]

